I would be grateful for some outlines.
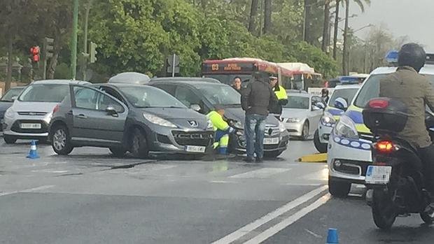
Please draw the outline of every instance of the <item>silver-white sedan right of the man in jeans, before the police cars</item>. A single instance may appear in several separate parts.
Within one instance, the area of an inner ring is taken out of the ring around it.
[[[281,121],[290,136],[307,140],[313,135],[323,116],[325,104],[320,96],[306,93],[288,93],[288,103],[283,106]]]

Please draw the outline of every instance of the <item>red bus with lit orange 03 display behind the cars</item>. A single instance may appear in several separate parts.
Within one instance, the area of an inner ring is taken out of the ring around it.
[[[281,85],[293,77],[292,71],[262,59],[236,57],[210,59],[202,63],[202,76],[220,80],[220,82],[228,85],[232,84],[235,77],[241,78],[242,82],[247,82],[256,71],[267,72],[270,76],[278,77]]]

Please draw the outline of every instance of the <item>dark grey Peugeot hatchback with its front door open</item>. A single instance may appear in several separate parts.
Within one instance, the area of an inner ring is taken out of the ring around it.
[[[208,118],[148,85],[71,85],[50,124],[52,148],[67,155],[74,147],[109,148],[116,156],[149,152],[202,157],[212,150]]]

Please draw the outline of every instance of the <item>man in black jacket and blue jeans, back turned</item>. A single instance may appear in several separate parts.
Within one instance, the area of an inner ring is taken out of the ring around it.
[[[276,95],[269,85],[269,76],[264,72],[253,74],[251,82],[241,91],[241,106],[246,111],[244,131],[246,134],[246,162],[262,162],[264,134],[270,103],[277,103]]]

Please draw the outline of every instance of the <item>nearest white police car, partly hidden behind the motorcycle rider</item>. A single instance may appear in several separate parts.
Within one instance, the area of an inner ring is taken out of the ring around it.
[[[397,62],[398,52],[390,52],[388,62]],[[434,55],[428,55],[428,60]],[[428,61],[420,73],[434,84],[434,62]],[[370,99],[379,96],[379,81],[396,71],[380,67],[372,71],[340,117],[328,141],[328,189],[334,196],[346,196],[351,183],[365,184],[367,166],[372,163],[372,134],[363,124],[362,110]]]

